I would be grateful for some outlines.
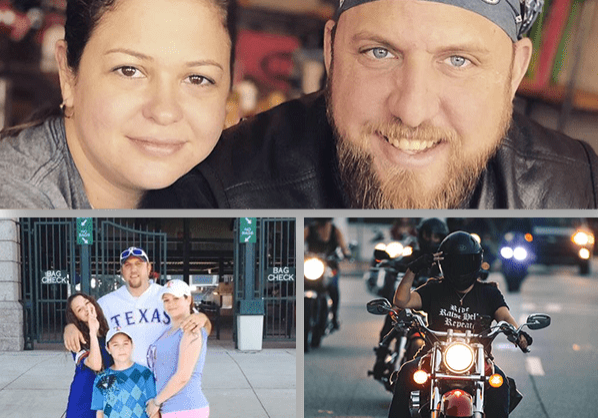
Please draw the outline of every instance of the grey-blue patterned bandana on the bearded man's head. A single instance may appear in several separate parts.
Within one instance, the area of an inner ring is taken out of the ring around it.
[[[355,6],[378,0],[339,0],[339,7],[334,15],[338,20],[340,15]],[[542,13],[544,0],[427,0],[434,3],[444,3],[471,10],[484,16],[500,26],[513,42],[523,38],[523,35],[534,24]]]

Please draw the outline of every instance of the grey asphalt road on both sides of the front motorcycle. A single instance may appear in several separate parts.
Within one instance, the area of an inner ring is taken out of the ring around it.
[[[528,331],[524,354],[504,337],[494,341],[496,362],[517,382],[524,399],[511,417],[595,416],[598,391],[598,262],[580,277],[574,267],[534,267],[520,294],[508,294],[502,275],[492,273],[514,318],[536,312],[552,317],[550,327]],[[375,299],[358,275],[341,276],[341,330],[305,355],[304,416],[385,418],[391,394],[367,376],[374,363],[383,317],[368,314]]]

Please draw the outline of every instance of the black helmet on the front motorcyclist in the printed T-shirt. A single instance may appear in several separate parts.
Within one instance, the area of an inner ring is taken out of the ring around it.
[[[438,251],[442,251],[444,258],[440,261],[440,271],[455,289],[463,291],[476,281],[484,251],[471,234],[453,232],[442,241]]]

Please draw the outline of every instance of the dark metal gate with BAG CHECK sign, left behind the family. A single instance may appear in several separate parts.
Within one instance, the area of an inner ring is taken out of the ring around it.
[[[87,224],[89,244],[78,244],[76,219],[21,218],[25,349],[33,349],[34,341],[62,342],[66,301],[74,292],[83,290],[97,299],[124,284],[124,249],[143,248],[154,280],[161,283],[166,277],[165,233],[129,226],[127,219],[88,218],[93,224]]]

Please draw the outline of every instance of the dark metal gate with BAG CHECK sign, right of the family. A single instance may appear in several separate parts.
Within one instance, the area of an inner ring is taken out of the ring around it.
[[[296,218],[235,220],[235,314],[263,313],[264,340],[296,340],[296,230]]]

